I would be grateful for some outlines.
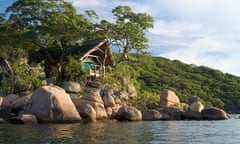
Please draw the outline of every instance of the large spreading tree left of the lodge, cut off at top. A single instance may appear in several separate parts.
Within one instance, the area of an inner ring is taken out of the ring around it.
[[[64,49],[84,40],[93,28],[64,0],[18,0],[7,8],[9,22],[22,32],[31,51],[44,51],[46,63],[61,72]],[[52,52],[52,53],[51,53]]]

